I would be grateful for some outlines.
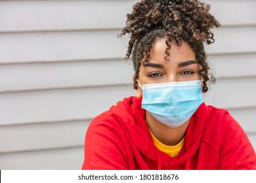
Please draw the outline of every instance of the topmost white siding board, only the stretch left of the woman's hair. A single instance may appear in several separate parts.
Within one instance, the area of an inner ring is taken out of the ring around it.
[[[119,29],[135,2],[0,1],[0,32]]]

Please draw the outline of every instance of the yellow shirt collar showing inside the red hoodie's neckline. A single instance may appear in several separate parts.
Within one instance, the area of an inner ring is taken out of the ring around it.
[[[182,146],[184,145],[184,137],[181,140],[181,142],[179,142],[179,144],[177,144],[175,146],[167,146],[167,145],[163,144],[162,142],[158,141],[158,139],[156,139],[156,137],[153,135],[153,133],[151,131],[150,131],[150,134],[151,134],[151,137],[153,139],[153,142],[154,142],[155,146],[161,152],[164,152],[165,154],[168,154],[172,158],[175,158],[175,156],[177,156],[179,154],[179,152],[181,151]]]

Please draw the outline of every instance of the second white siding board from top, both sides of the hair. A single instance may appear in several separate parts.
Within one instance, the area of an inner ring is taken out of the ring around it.
[[[124,58],[127,42],[119,31],[0,34],[0,63]],[[209,54],[256,52],[255,27],[223,27]],[[239,36],[238,36],[239,35]],[[234,39],[241,37],[242,39]]]

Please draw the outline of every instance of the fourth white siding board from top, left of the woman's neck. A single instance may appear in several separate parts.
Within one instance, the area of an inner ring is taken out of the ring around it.
[[[0,93],[0,125],[91,119],[130,95],[132,85]]]

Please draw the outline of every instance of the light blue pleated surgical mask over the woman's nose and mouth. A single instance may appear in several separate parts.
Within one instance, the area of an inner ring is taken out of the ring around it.
[[[138,80],[139,82],[139,80]],[[184,124],[203,103],[201,80],[143,84],[142,108],[169,126]]]

